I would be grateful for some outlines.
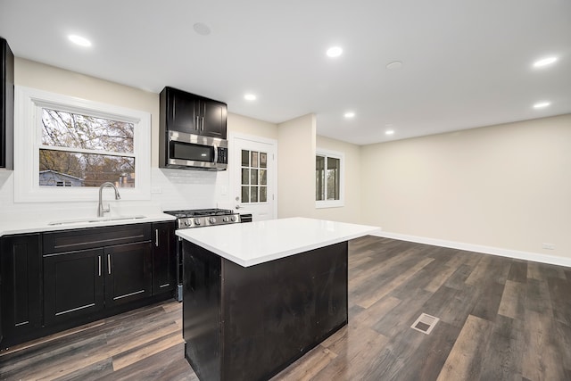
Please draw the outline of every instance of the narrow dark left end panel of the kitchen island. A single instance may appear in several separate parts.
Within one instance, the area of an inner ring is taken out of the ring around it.
[[[203,380],[220,379],[221,258],[183,242],[185,356]]]

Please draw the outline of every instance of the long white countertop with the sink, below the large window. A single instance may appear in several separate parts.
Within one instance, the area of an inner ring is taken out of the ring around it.
[[[95,213],[94,213],[95,214]],[[137,218],[134,218],[137,217]],[[115,225],[139,224],[176,219],[170,214],[157,211],[151,213],[141,212],[128,215],[111,215],[101,218],[38,218],[37,215],[27,217],[12,217],[0,220],[0,236],[12,234],[37,233],[54,230],[68,230],[75,228],[98,228]]]

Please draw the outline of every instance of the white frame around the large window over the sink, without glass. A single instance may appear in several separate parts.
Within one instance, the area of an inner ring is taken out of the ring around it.
[[[14,87],[14,202],[97,201],[97,186],[39,186],[42,109],[80,113],[135,124],[135,187],[120,188],[122,200],[151,199],[151,114],[31,87]],[[30,154],[29,150],[32,150]]]

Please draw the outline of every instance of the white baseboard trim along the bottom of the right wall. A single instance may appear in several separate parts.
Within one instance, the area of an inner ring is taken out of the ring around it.
[[[502,249],[500,247],[484,246],[480,244],[465,244],[462,242],[446,241],[443,239],[428,238],[426,236],[409,236],[399,233],[380,231],[373,236],[400,239],[402,241],[416,242],[418,244],[432,244],[434,246],[449,247],[451,249],[466,250],[468,252],[499,255],[501,257],[516,258],[518,260],[549,263],[552,265],[571,267],[571,258],[563,258],[542,253],[520,252],[517,250]]]

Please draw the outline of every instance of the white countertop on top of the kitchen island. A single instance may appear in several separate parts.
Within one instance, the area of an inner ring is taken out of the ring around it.
[[[380,228],[366,225],[297,217],[179,229],[176,234],[229,261],[249,267],[378,231]]]

